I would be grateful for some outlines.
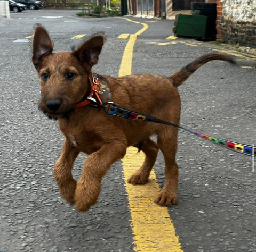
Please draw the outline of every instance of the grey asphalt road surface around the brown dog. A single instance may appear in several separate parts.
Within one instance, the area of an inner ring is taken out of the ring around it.
[[[49,30],[55,51],[81,43],[71,37],[105,31],[107,41],[93,71],[114,76],[127,43],[117,37],[141,29],[140,24],[125,19],[84,19],[76,12],[43,9],[0,19],[1,252],[110,252],[135,247],[122,162],[111,167],[102,181],[98,205],[86,213],[63,201],[53,179],[63,136],[58,123],[37,110],[38,75],[26,41],[34,23]],[[255,55],[193,39],[166,40],[173,35],[173,21],[129,18],[149,26],[135,43],[133,73],[170,75],[206,53],[225,50],[235,54],[235,66],[207,63],[179,88],[181,124],[212,137],[256,144]],[[77,158],[76,179],[85,158]],[[177,163],[179,204],[169,214],[182,250],[255,252],[256,172],[252,159],[180,131]],[[154,169],[162,187],[161,153]]]

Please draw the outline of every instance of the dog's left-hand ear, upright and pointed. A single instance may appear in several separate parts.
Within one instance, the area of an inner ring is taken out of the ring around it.
[[[53,43],[48,32],[41,26],[41,24],[36,24],[33,39],[32,62],[37,70],[42,58],[51,54],[52,50]]]

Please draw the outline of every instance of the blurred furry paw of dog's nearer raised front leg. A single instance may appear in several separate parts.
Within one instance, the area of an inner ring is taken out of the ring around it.
[[[95,181],[79,180],[75,192],[76,209],[88,211],[97,202],[101,184]]]

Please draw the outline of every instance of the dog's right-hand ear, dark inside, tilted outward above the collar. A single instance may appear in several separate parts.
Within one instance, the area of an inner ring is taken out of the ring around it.
[[[93,65],[98,63],[104,40],[103,35],[94,36],[79,46],[76,51],[73,52],[73,55],[76,56],[83,65],[88,64],[90,68],[92,68]]]

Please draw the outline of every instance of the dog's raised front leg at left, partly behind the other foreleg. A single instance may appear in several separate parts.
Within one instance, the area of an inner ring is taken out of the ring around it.
[[[74,196],[76,190],[76,181],[73,179],[71,171],[78,154],[79,150],[66,139],[61,156],[54,166],[54,178],[58,183],[60,194],[71,204],[75,202]]]

